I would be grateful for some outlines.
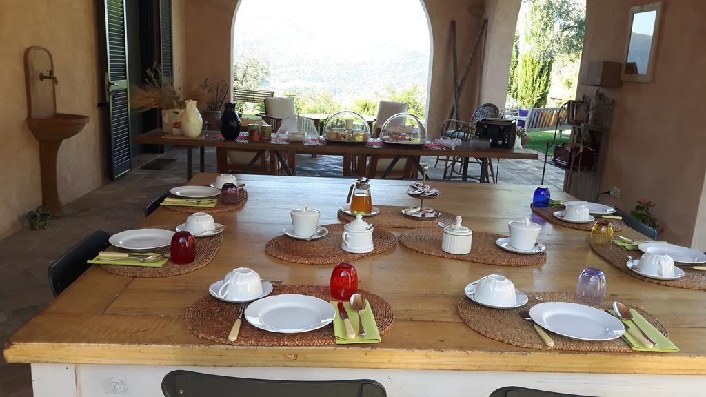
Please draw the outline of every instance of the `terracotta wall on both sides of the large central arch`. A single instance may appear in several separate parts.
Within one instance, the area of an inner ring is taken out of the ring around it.
[[[450,21],[456,20],[459,73],[462,73],[481,26],[484,1],[426,0],[423,4],[426,6],[433,32],[427,124],[430,136],[438,136],[441,123],[448,117],[453,105]],[[232,23],[236,8],[237,1],[234,0],[186,2],[186,15],[189,16],[186,19],[186,67],[189,71],[186,75],[187,87],[200,84],[206,77],[214,81],[229,79],[233,47]],[[427,29],[426,26],[419,28]],[[462,93],[462,119],[469,119],[477,106],[481,64],[482,46],[478,49]]]

